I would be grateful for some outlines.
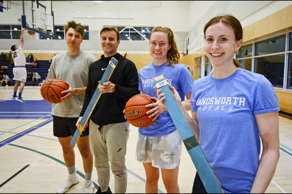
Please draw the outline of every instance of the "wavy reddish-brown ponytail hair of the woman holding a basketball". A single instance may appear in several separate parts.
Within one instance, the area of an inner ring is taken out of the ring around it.
[[[174,63],[179,63],[180,55],[176,46],[176,39],[174,38],[172,30],[167,27],[157,26],[152,29],[151,34],[150,34],[150,40],[151,40],[151,35],[153,32],[163,32],[167,35],[168,43],[169,45],[171,45],[171,47],[169,51],[167,52],[166,60],[169,62],[168,65],[171,65],[172,67],[174,67]]]

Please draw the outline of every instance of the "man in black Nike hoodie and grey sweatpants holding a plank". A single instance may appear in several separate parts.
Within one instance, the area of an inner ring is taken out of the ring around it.
[[[101,96],[90,116],[89,141],[97,170],[99,189],[97,193],[112,193],[109,188],[110,168],[115,176],[115,193],[125,193],[127,189],[127,169],[125,155],[129,136],[129,123],[124,118],[126,102],[139,94],[139,79],[135,64],[117,52],[120,32],[106,26],[100,31],[103,55],[89,67],[89,81],[78,126],[96,89]],[[110,59],[118,60],[108,82],[97,88]]]

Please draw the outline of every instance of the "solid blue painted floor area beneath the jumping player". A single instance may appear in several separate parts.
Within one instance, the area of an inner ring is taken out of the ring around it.
[[[45,100],[6,100],[0,102],[0,119],[50,119],[52,106]]]

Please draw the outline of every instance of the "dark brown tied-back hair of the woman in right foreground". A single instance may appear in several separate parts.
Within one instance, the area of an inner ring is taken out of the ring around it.
[[[233,28],[235,40],[239,41],[242,39],[243,31],[242,31],[242,26],[241,26],[239,20],[231,14],[220,14],[220,15],[217,15],[214,18],[210,19],[210,21],[204,26],[205,40],[206,40],[207,28],[209,28],[210,25],[217,24],[219,22],[230,25],[231,28]],[[242,66],[239,64],[239,62],[237,60],[233,59],[233,63],[235,64],[236,67],[242,68]]]

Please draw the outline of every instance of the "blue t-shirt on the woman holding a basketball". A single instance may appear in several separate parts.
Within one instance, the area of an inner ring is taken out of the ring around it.
[[[164,75],[169,84],[176,88],[182,100],[185,95],[192,92],[193,78],[186,65],[175,63],[174,68],[167,65],[168,62],[155,66],[152,63],[140,69],[139,75],[139,90],[145,94],[157,98],[153,77]],[[144,136],[154,137],[167,135],[176,130],[176,126],[168,111],[164,111],[158,116],[156,121],[149,127],[139,128],[139,133]]]

